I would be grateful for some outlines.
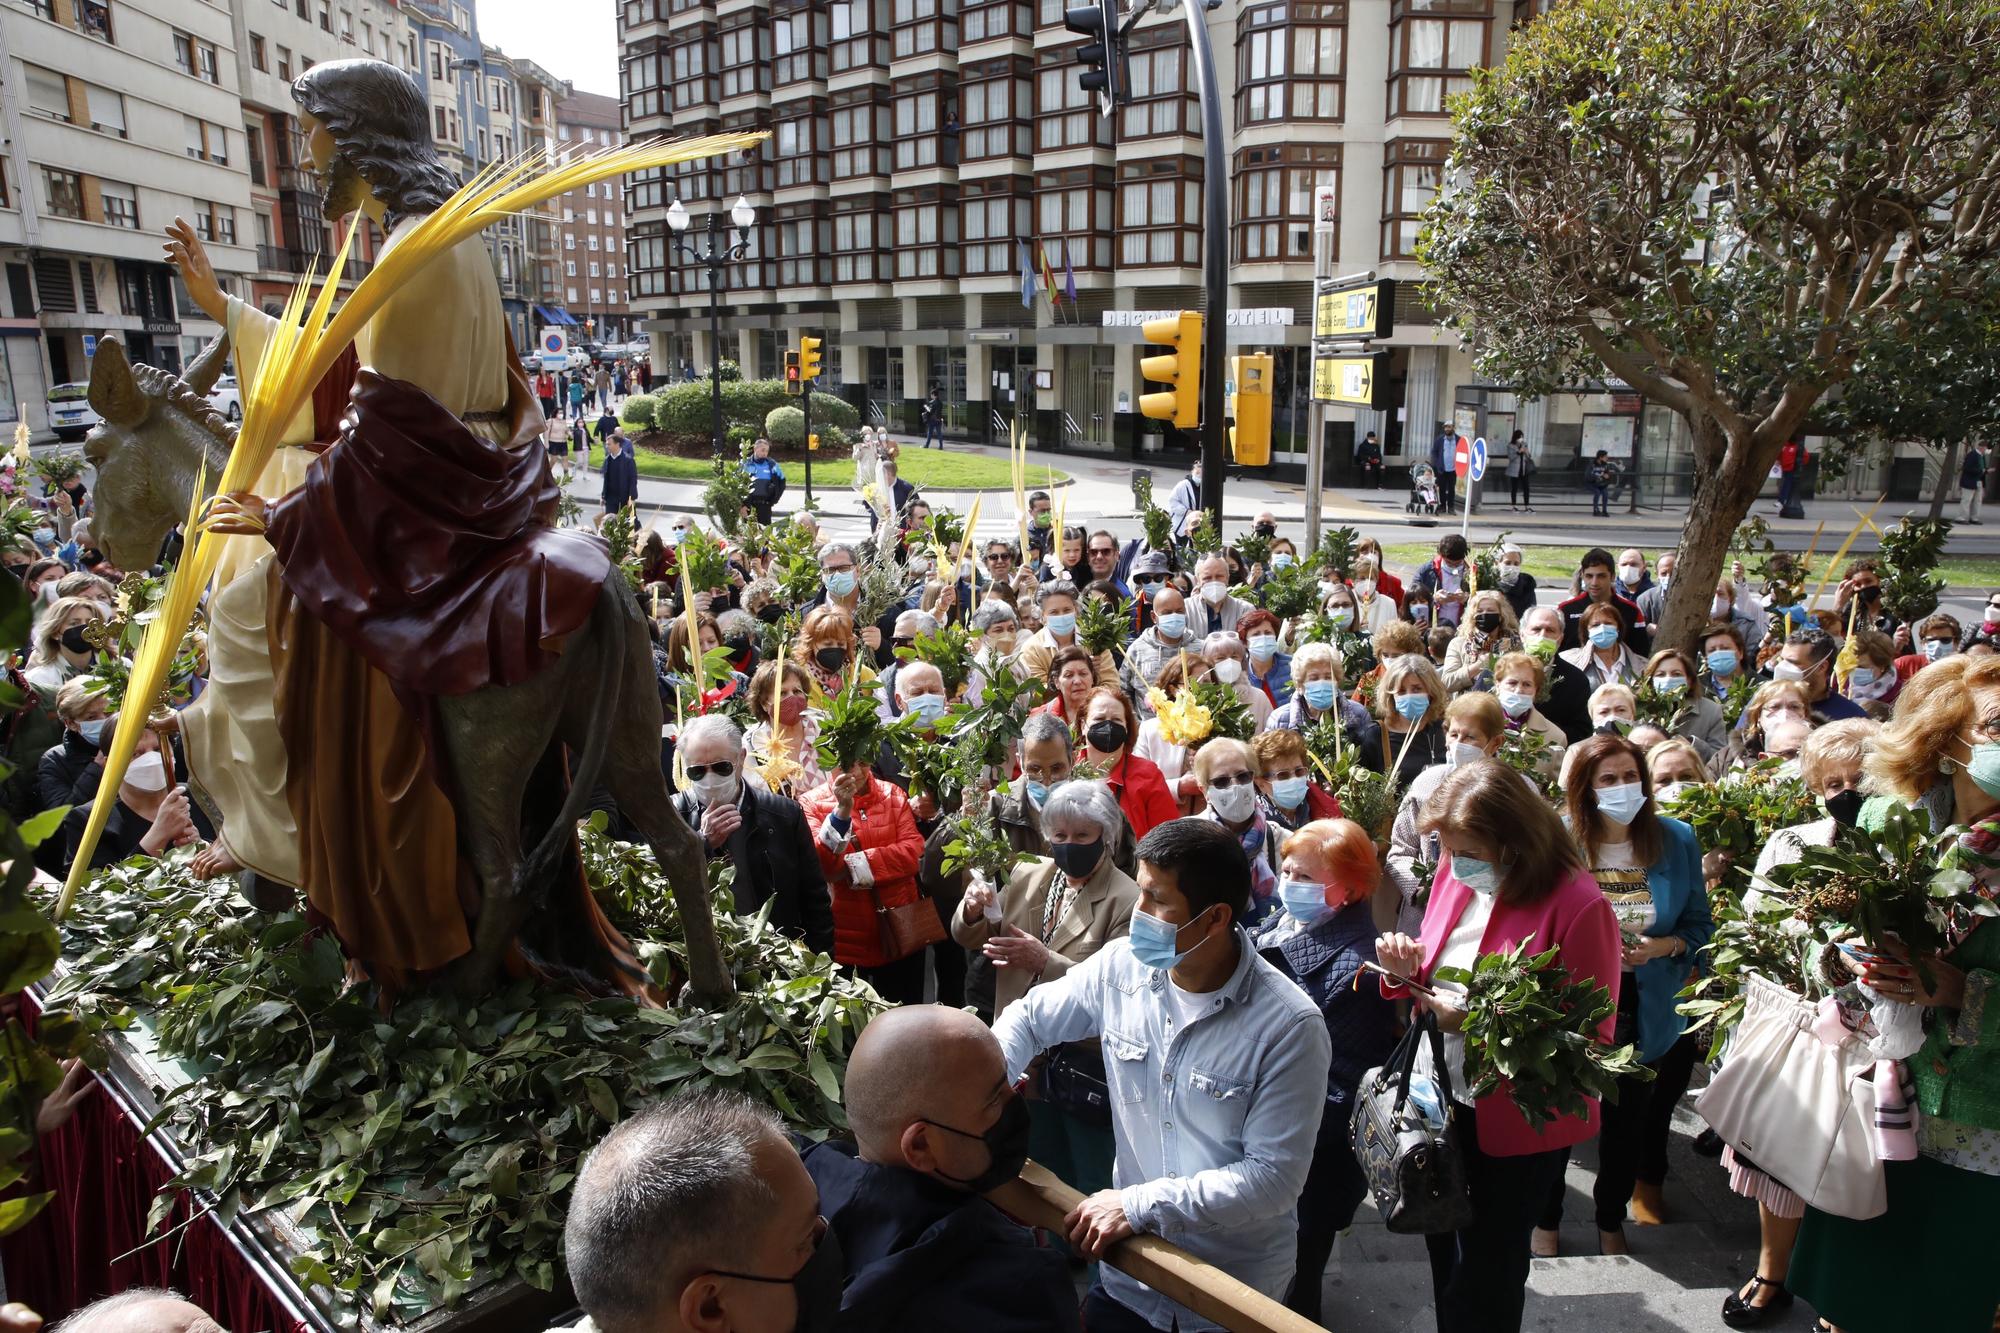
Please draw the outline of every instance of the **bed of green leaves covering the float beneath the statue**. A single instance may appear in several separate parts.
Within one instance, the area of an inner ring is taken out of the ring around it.
[[[670,985],[686,969],[672,895],[646,849],[598,823],[584,873]],[[672,1093],[734,1089],[814,1139],[846,1125],[840,1071],[880,1001],[764,915],[734,915],[726,875],[710,891],[738,991],[724,1013],[518,981],[476,1005],[408,993],[388,1023],[330,935],[196,883],[188,861],[92,883],[64,921],[72,967],[52,1003],[106,1021],[144,1009],[160,1051],[198,1071],[160,1115],[188,1161],[152,1225],[182,1189],[224,1225],[284,1207],[312,1237],[292,1271],[344,1319],[412,1323],[510,1275],[552,1289],[578,1163]]]

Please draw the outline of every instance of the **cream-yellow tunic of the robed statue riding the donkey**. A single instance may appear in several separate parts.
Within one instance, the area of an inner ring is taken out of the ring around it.
[[[388,236],[394,248],[416,218]],[[230,298],[230,348],[248,388],[264,362],[276,320]],[[354,340],[362,366],[416,384],[456,416],[500,412],[508,402],[506,318],[492,258],[478,236],[426,264],[390,294]],[[508,422],[468,422],[474,434],[506,438]],[[284,430],[256,492],[276,500],[312,462],[312,404]],[[208,600],[208,689],[180,715],[194,783],[222,815],[220,837],[252,871],[300,883],[298,823],[286,801],[290,761],[278,733],[268,638],[272,560],[262,538],[232,536]]]

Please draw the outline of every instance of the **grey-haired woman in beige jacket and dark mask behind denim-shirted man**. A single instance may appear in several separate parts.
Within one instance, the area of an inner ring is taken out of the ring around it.
[[[952,939],[994,965],[994,1017],[1130,933],[1138,885],[1114,865],[1124,827],[1110,787],[1062,783],[1042,803],[1048,855],[1016,865],[998,895],[982,883],[966,889]],[[1104,1093],[1102,1045],[1056,1047],[1034,1067],[1034,1081],[1030,1157],[1086,1195],[1110,1189],[1112,1129],[1102,1103],[1090,1115],[1084,1101],[1092,1087]]]

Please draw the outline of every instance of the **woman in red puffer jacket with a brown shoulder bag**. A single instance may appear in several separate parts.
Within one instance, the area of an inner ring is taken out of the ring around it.
[[[892,1005],[924,1003],[924,949],[882,953],[878,909],[914,903],[924,835],[910,799],[866,763],[834,773],[800,799],[834,899],[834,963],[852,967]]]

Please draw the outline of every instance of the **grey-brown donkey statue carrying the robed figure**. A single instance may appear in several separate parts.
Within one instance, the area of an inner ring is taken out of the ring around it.
[[[98,546],[124,568],[146,568],[176,522],[184,522],[206,462],[208,486],[222,476],[236,428],[208,404],[228,356],[218,338],[176,378],[132,364],[116,338],[98,342],[90,406],[104,418],[84,456],[96,468]],[[660,775],[660,689],[646,620],[612,564],[590,620],[552,666],[508,687],[436,701],[450,791],[458,793],[460,851],[480,881],[472,951],[452,983],[468,995],[494,985],[516,935],[540,907],[546,871],[570,837],[584,797],[600,783],[632,821],[674,891],[698,1005],[734,995],[708,905],[700,841],[682,823]],[[530,857],[522,855],[522,795],[530,771],[560,741],[576,755],[562,819]],[[330,739],[338,745],[338,739]]]

